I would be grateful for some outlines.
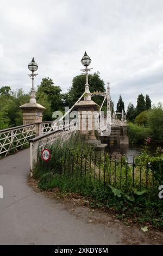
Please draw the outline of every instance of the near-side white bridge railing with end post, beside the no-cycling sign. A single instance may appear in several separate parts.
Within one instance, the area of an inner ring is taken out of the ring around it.
[[[65,123],[65,122],[64,122]],[[57,126],[56,126],[57,127]],[[33,139],[30,139],[30,176],[33,176],[33,167],[37,161],[37,154],[39,149],[49,147],[54,141],[60,139],[66,141],[78,130],[77,121],[76,123],[64,124],[63,129],[59,127],[57,130],[49,131],[46,134],[42,134]]]

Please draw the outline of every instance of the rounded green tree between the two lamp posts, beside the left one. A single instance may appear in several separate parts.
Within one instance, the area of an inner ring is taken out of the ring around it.
[[[61,110],[61,106],[62,106],[61,88],[59,86],[55,86],[53,80],[49,77],[43,78],[40,86],[37,87],[37,93],[36,93],[37,101],[41,102],[42,97],[44,97],[45,94],[47,95],[48,102],[51,105],[51,111],[53,112],[53,111]]]

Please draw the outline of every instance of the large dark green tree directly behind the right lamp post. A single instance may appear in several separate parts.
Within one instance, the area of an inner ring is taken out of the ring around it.
[[[93,75],[90,74],[88,76],[89,80],[89,87],[90,87],[90,92],[105,92],[105,83],[104,81],[100,78],[99,72],[94,73]],[[85,82],[86,78],[85,75],[79,75],[73,78],[72,80],[72,87],[68,91],[68,102],[70,106],[73,106],[74,103],[79,99],[80,96],[84,93],[85,89]],[[101,105],[103,102],[103,97],[102,96],[93,96],[92,100],[94,100],[98,105]]]

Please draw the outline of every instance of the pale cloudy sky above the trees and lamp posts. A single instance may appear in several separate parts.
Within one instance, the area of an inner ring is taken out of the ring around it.
[[[86,50],[115,104],[140,93],[163,102],[162,14],[162,0],[1,0],[0,86],[29,92],[34,57],[35,87],[51,77],[67,92]]]

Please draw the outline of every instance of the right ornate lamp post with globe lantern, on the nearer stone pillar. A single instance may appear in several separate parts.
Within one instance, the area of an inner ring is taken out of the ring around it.
[[[92,68],[91,69],[87,68],[90,65],[90,63],[91,63],[91,58],[89,56],[87,56],[86,52],[84,53],[84,56],[81,59],[81,62],[83,64],[83,66],[85,66],[85,69],[81,69],[81,70],[83,72],[85,72],[85,74],[86,74],[86,84],[85,84],[84,100],[91,100],[91,93],[90,93],[89,83],[88,83],[88,71],[91,71]]]

